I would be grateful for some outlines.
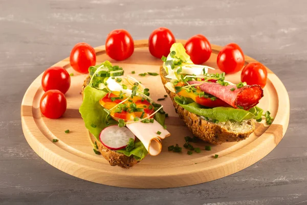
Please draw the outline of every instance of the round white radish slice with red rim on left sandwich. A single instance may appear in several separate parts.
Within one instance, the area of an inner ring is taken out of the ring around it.
[[[99,135],[101,143],[110,150],[120,150],[127,146],[129,139],[136,136],[126,127],[117,125],[104,128]]]

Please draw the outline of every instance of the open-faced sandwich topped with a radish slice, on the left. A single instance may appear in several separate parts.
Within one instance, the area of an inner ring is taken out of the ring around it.
[[[96,154],[112,166],[131,168],[147,154],[161,152],[165,129],[163,106],[149,97],[149,89],[109,61],[89,68],[79,109],[85,127],[95,136]],[[137,137],[137,138],[136,138]]]

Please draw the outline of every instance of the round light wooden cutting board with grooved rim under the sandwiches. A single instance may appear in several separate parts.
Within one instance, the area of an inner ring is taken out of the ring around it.
[[[221,48],[212,45],[211,57],[205,65],[217,69],[216,56]],[[159,67],[162,65],[162,60],[150,55],[147,40],[136,40],[134,54],[123,61],[109,58],[105,53],[105,46],[97,47],[95,51],[97,64],[110,60],[113,65],[122,67],[125,75],[136,77],[149,88],[153,100],[166,94],[160,76],[138,75],[143,72],[159,73]],[[245,56],[245,59],[246,64],[256,61],[248,56]],[[71,88],[65,94],[68,102],[67,111],[59,119],[49,119],[41,115],[41,74],[28,88],[21,104],[23,131],[29,145],[41,158],[57,169],[85,180],[116,187],[142,189],[196,185],[251,166],[277,146],[288,128],[290,103],[287,90],[279,78],[268,69],[265,96],[258,106],[271,112],[271,116],[274,117],[271,126],[267,126],[265,120],[256,122],[254,133],[247,139],[218,146],[211,145],[211,151],[205,151],[204,148],[208,145],[206,142],[198,142],[192,145],[202,149],[199,154],[188,155],[185,148],[182,153],[168,152],[168,146],[179,144],[183,147],[184,137],[192,134],[174,111],[171,99],[167,97],[159,103],[164,105],[164,110],[169,114],[166,126],[171,136],[162,141],[161,154],[155,157],[148,155],[131,169],[112,167],[101,155],[93,152],[90,133],[85,128],[78,110],[82,103],[80,91],[86,75],[75,72],[70,67],[69,58],[59,61],[54,66],[62,66],[69,73],[74,73],[71,77]],[[135,71],[136,74],[131,74],[131,71]],[[226,79],[238,83],[240,72],[227,75]],[[68,129],[69,134],[64,132]],[[59,141],[52,142],[54,138]],[[218,154],[218,158],[213,157],[215,154]]]

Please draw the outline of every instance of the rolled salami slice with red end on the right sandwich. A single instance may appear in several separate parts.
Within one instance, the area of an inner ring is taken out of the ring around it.
[[[200,84],[200,81],[189,81],[188,83],[190,85]],[[242,107],[244,110],[256,106],[261,97],[264,96],[264,91],[258,85],[237,88],[235,85],[222,86],[218,83],[202,82],[199,88],[205,93],[220,98],[234,108]],[[232,88],[235,90],[231,91]]]

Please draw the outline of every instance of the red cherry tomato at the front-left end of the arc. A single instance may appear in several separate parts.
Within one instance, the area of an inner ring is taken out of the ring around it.
[[[49,90],[40,99],[40,112],[48,118],[59,118],[66,111],[66,107],[66,98],[58,90]]]

